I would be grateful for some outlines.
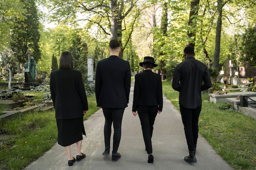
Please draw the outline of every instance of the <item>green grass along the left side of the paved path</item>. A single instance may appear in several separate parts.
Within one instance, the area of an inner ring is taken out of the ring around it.
[[[84,116],[84,119],[99,110],[95,96],[88,97],[88,106],[88,114]],[[36,123],[36,128],[20,128],[31,122]],[[26,167],[57,141],[58,131],[54,110],[19,116],[7,121],[4,128],[8,128],[7,133],[13,137],[0,144],[1,170],[20,170]]]

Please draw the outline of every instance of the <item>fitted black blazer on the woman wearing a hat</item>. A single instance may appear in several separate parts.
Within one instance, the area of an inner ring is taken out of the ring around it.
[[[137,111],[137,106],[158,106],[163,108],[163,92],[161,75],[151,70],[144,70],[135,75],[132,111]]]

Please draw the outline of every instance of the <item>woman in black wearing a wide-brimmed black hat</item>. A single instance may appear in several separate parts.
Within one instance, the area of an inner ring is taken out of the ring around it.
[[[163,108],[162,78],[152,71],[157,66],[153,57],[144,57],[144,62],[139,65],[144,71],[135,75],[132,113],[136,117],[138,112],[148,163],[153,163],[151,138],[155,117]]]

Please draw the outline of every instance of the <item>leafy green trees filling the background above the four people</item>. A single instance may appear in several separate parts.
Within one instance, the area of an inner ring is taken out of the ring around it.
[[[140,71],[144,56],[153,56],[162,77],[171,77],[183,48],[195,47],[196,58],[220,69],[225,60],[256,65],[254,0],[3,0],[0,2],[0,55],[11,71],[20,72],[27,49],[38,70],[50,73],[52,59],[71,51],[74,67],[85,73],[88,55],[108,57],[108,42],[122,43],[121,58]],[[45,9],[51,12],[44,12]],[[41,21],[53,21],[45,28]],[[39,39],[40,38],[40,39]],[[17,67],[18,66],[18,67]]]

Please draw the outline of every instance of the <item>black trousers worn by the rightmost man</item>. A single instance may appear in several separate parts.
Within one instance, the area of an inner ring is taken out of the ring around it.
[[[198,141],[198,118],[201,109],[202,105],[191,109],[185,108],[180,104],[180,113],[189,151],[195,151],[195,146]]]

